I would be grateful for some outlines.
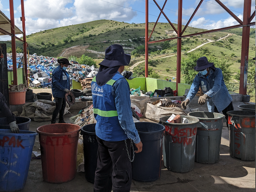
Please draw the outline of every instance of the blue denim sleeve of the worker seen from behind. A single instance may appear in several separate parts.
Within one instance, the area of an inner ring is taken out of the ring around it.
[[[122,129],[134,143],[139,143],[140,136],[133,122],[133,113],[131,112],[130,87],[125,78],[118,79],[114,83],[112,95],[115,98],[118,120]]]

